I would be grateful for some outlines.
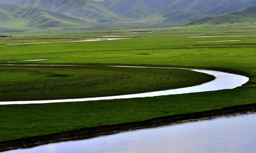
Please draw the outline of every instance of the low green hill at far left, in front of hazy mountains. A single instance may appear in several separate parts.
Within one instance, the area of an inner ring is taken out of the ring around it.
[[[0,27],[73,27],[86,21],[33,7],[0,4]]]

